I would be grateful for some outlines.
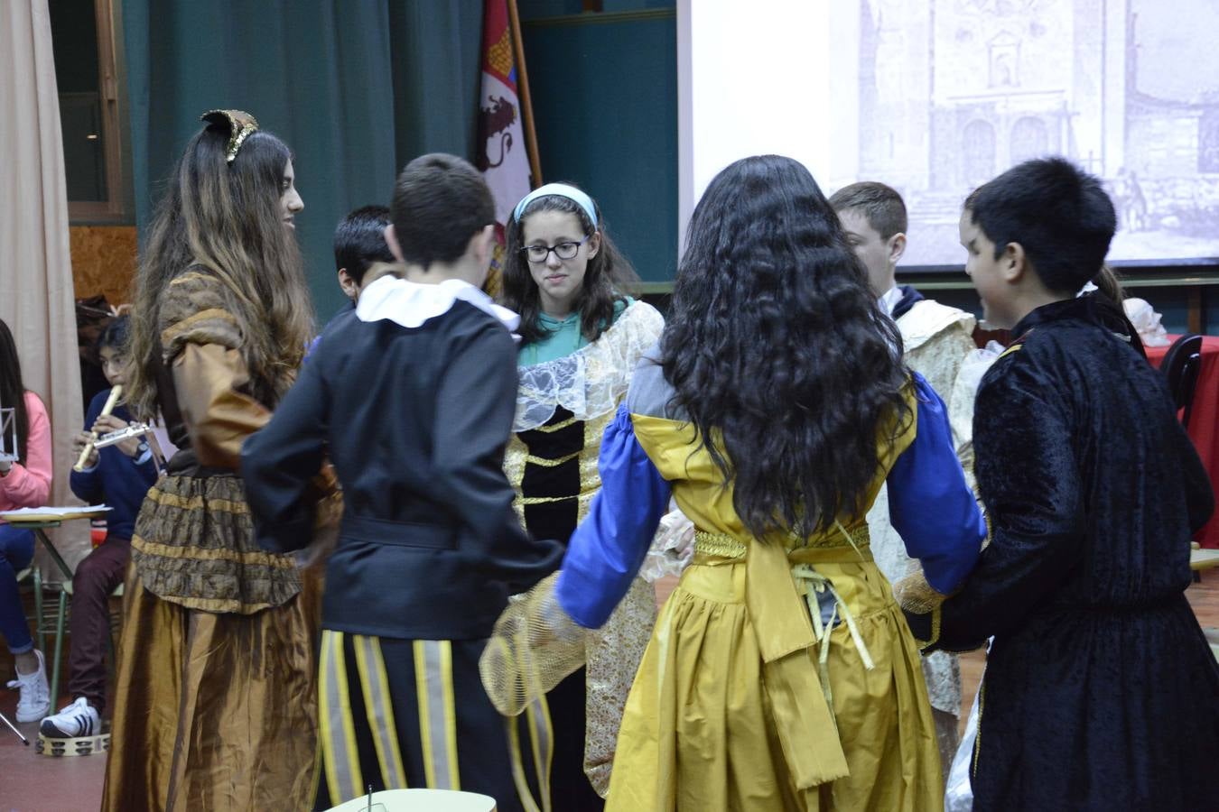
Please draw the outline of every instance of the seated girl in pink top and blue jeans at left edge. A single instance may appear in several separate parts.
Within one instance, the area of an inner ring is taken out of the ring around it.
[[[0,404],[17,407],[17,461],[0,458],[0,510],[39,508],[51,495],[51,421],[41,399],[22,386],[17,346],[2,320]],[[11,455],[13,449],[2,450]],[[43,653],[34,649],[17,594],[17,573],[29,566],[33,558],[34,533],[0,521],[0,637],[9,644],[17,665],[17,678],[9,688],[21,690],[18,722],[37,722],[51,707]]]

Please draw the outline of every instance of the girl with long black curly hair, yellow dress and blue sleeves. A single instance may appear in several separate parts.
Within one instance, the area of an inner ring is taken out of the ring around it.
[[[553,592],[522,601],[550,632],[489,650],[534,646],[538,671],[507,681],[528,688],[553,671],[549,651],[568,656],[567,640],[605,622],[670,494],[694,521],[694,560],[627,701],[607,808],[942,805],[918,648],[864,516],[887,482],[923,565],[907,592],[928,601],[965,577],[985,523],[944,403],[902,364],[800,163],[745,158],[707,187],[659,347],[606,429],[600,469],[542,584]]]

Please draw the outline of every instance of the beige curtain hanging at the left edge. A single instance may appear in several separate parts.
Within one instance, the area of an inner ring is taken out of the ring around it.
[[[80,358],[46,0],[0,1],[0,318],[17,340],[26,387],[41,396],[51,418],[51,502],[79,504],[68,487],[68,438],[83,421]],[[74,566],[89,550],[88,523],[69,522],[51,539]]]

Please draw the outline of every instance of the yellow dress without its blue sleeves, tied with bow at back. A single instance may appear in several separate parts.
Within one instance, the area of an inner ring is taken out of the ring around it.
[[[689,422],[630,419],[698,534],[627,702],[607,810],[942,808],[918,646],[863,514],[759,543]],[[865,504],[914,433],[883,448]]]

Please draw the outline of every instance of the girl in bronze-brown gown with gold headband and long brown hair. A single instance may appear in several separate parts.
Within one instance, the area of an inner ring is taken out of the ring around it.
[[[240,111],[187,145],[135,280],[128,408],[180,449],[132,536],[102,807],[305,808],[312,595],[255,542],[243,441],[312,332],[291,152]]]

